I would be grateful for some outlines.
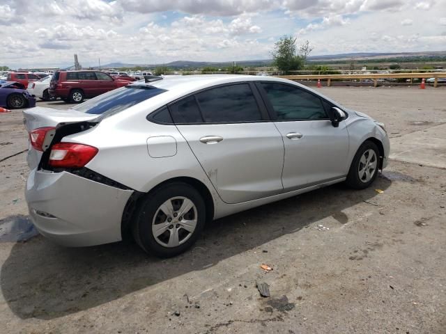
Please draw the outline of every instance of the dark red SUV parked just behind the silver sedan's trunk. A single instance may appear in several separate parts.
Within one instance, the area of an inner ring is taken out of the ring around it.
[[[100,71],[57,71],[49,84],[49,95],[65,102],[81,103],[109,90],[126,86],[129,81],[115,79]]]

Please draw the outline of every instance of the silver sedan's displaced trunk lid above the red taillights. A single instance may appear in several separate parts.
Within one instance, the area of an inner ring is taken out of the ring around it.
[[[82,113],[73,109],[58,110],[41,106],[24,110],[23,116],[24,126],[28,133],[40,127],[55,127],[57,132],[57,129],[64,125],[81,122],[95,122],[95,118],[98,118],[98,115]],[[79,129],[79,131],[82,131],[82,129]],[[51,139],[45,137],[45,141],[47,140]],[[33,148],[28,139],[28,155],[26,161],[28,162],[29,168],[37,168],[40,159],[42,159],[42,155],[43,152]]]

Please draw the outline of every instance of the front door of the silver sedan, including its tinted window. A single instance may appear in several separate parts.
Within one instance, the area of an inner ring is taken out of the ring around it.
[[[333,127],[331,105],[291,84],[258,84],[285,145],[282,182],[285,191],[344,177],[348,171],[346,122]]]

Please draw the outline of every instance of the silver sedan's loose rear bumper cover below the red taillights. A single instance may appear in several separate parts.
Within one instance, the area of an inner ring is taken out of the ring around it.
[[[25,198],[40,234],[61,246],[94,246],[121,240],[121,218],[131,190],[68,172],[31,170]]]

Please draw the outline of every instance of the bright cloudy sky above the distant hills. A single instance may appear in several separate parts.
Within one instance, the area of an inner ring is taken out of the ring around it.
[[[270,58],[275,42],[312,54],[446,50],[446,0],[0,0],[0,65]]]

